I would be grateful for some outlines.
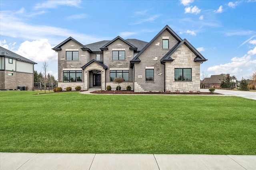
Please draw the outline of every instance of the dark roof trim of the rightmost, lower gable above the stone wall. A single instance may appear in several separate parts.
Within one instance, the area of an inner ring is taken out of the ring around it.
[[[182,45],[186,45],[195,55],[196,57],[194,58],[194,61],[196,62],[204,62],[207,61],[207,59],[204,58],[204,56],[201,55],[201,53],[199,53],[197,51],[197,49],[191,45],[188,40],[184,39],[182,40],[180,43],[177,43],[172,49],[170,49],[170,51],[168,51],[168,53],[160,60],[161,63],[165,63],[168,62],[168,59],[172,59],[170,56]],[[173,61],[173,60],[172,60]],[[170,61],[169,61],[170,62]]]

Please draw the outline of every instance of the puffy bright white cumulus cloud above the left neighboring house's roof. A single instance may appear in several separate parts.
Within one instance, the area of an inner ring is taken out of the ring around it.
[[[56,62],[58,53],[52,50],[48,39],[23,42],[15,53],[35,62],[52,61]]]

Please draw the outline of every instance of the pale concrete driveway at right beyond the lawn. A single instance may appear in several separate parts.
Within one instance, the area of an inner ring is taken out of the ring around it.
[[[208,89],[201,89],[200,92],[209,92]],[[226,96],[238,96],[242,98],[256,100],[256,92],[242,91],[242,90],[220,90],[216,89],[216,93],[224,94]]]

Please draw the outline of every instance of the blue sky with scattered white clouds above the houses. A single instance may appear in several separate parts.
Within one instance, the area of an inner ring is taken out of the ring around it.
[[[248,78],[256,70],[256,0],[1,0],[0,45],[58,75],[52,48],[68,37],[86,45],[150,41],[165,25],[208,59],[201,73]]]

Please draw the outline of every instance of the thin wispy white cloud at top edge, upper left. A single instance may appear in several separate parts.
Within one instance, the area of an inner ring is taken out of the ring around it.
[[[81,0],[48,0],[45,3],[38,3],[34,7],[35,10],[40,8],[57,8],[60,5],[79,7]]]

